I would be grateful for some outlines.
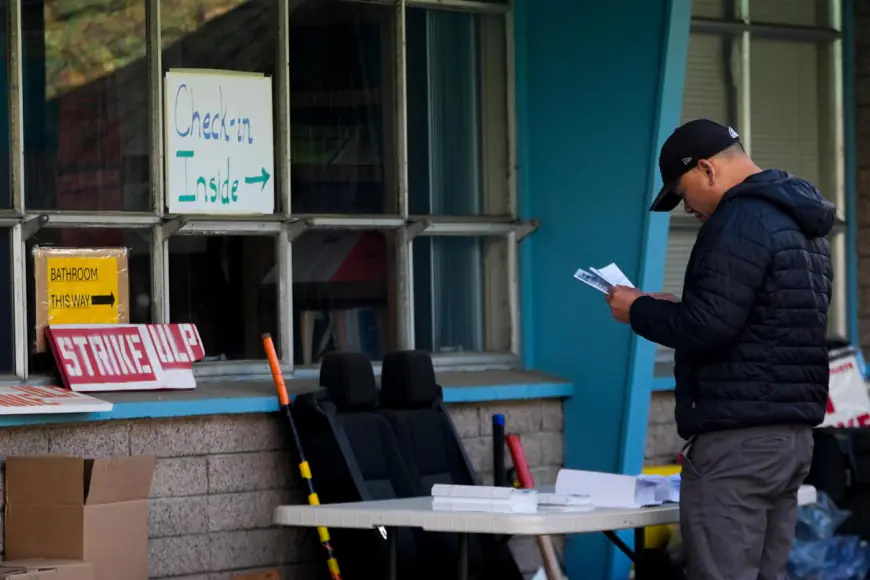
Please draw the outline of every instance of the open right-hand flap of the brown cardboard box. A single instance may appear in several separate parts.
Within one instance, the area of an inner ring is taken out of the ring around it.
[[[88,505],[148,499],[156,460],[150,456],[88,460]]]

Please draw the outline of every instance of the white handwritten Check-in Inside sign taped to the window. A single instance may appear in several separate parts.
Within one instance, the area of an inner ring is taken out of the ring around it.
[[[173,70],[166,73],[165,100],[169,213],[271,214],[272,79]]]

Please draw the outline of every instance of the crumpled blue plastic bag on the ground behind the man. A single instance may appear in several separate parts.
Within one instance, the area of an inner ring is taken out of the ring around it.
[[[795,541],[788,559],[792,580],[864,580],[870,546],[857,536],[834,533],[850,515],[819,492],[817,503],[798,508]]]

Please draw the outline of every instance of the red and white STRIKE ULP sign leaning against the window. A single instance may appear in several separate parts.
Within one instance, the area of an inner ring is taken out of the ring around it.
[[[73,391],[193,389],[205,356],[193,324],[66,324],[46,336]]]

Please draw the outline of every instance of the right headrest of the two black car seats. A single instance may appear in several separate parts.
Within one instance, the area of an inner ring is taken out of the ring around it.
[[[391,352],[381,367],[381,406],[430,407],[441,396],[432,357],[423,350]]]

